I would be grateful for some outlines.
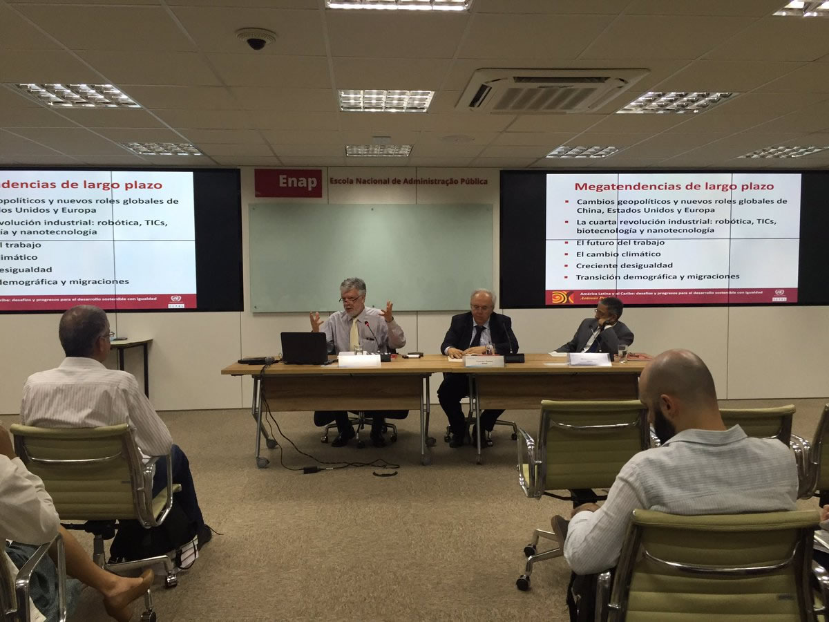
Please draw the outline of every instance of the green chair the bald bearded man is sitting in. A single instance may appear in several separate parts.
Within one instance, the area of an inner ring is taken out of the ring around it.
[[[817,620],[814,510],[677,516],[634,510],[616,567],[599,576],[595,620]],[[815,567],[813,567],[815,566]]]

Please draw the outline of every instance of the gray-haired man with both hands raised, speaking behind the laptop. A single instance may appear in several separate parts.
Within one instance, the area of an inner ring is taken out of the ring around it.
[[[325,332],[328,352],[353,352],[360,347],[366,354],[389,352],[389,348],[404,347],[406,338],[403,328],[395,322],[391,313],[391,301],[385,303],[385,310],[366,307],[366,281],[363,279],[345,279],[340,284],[340,302],[342,311],[332,313],[324,322],[318,312],[310,313],[311,332]],[[405,419],[409,411],[366,411],[371,417],[371,444],[385,447],[383,426],[385,417]],[[316,411],[313,421],[322,427],[332,421],[337,422],[339,435],[332,441],[332,447],[342,447],[356,434],[354,426],[348,420],[347,411]]]

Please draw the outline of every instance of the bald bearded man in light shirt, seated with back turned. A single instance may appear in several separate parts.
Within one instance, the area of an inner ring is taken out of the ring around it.
[[[669,350],[654,358],[639,380],[639,399],[662,446],[628,460],[601,508],[574,508],[564,554],[575,575],[616,565],[635,508],[686,515],[795,508],[793,453],[777,439],[747,437],[739,425],[725,429],[714,379],[696,354]],[[580,601],[592,606],[583,594]]]

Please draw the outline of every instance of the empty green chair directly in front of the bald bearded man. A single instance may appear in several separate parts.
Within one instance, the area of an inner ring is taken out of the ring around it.
[[[541,402],[536,439],[518,428],[518,483],[529,498],[573,501],[550,491],[610,488],[623,465],[649,445],[645,406],[638,400]],[[607,496],[599,496],[607,498]],[[537,552],[539,538],[558,546]],[[526,567],[519,590],[530,589],[532,566],[563,555],[560,534],[536,529],[524,547]]]

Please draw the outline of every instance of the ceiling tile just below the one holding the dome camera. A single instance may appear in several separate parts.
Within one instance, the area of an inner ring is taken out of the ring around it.
[[[225,85],[276,86],[293,89],[331,87],[324,56],[250,56],[210,54]]]

